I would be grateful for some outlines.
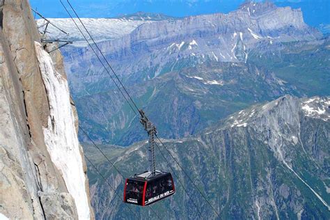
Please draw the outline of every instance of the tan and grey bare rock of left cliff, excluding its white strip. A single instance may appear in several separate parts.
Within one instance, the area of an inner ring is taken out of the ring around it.
[[[9,219],[78,219],[74,198],[45,144],[49,96],[36,56],[40,35],[29,2],[0,3],[0,213]],[[61,54],[55,52],[52,60],[64,77]],[[81,150],[84,161],[83,155]],[[87,178],[84,187],[89,195]]]

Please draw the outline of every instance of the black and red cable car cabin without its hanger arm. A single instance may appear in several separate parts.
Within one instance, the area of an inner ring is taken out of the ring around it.
[[[135,205],[150,205],[175,194],[171,173],[150,171],[127,178],[124,187],[124,202]]]

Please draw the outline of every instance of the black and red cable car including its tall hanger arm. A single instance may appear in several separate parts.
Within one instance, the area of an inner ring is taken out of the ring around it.
[[[150,162],[150,171],[135,174],[132,178],[126,179],[124,203],[145,206],[175,194],[175,187],[171,173],[156,171],[154,136],[157,134],[157,130],[142,110],[140,110],[140,113],[140,122],[149,136],[148,160]]]

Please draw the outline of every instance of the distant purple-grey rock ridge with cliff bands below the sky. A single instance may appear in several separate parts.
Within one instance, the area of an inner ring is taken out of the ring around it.
[[[263,5],[258,3],[255,7],[258,8],[260,4]],[[100,42],[99,47],[106,52],[105,56],[117,74],[134,83],[127,78],[133,75],[134,80],[136,76],[141,77],[142,72],[143,80],[152,79],[182,59],[191,59],[191,65],[208,59],[216,62],[246,62],[249,52],[260,45],[263,45],[262,50],[272,51],[275,47],[281,48],[285,42],[313,42],[322,36],[304,24],[299,10],[272,8],[267,16],[260,18],[260,21],[259,18],[252,19],[249,11],[243,8],[227,15],[199,15],[174,22],[148,22],[136,26],[120,39]],[[93,58],[95,55],[88,48],[65,47],[63,53],[71,85],[76,84],[76,71],[86,72],[80,70],[81,67],[86,68],[86,62],[91,66],[87,71],[89,74],[99,75],[97,80],[102,82],[107,80],[107,77],[102,77],[102,65],[97,63]],[[81,56],[73,59],[70,54]],[[80,74],[79,77],[85,75]],[[91,85],[82,84],[84,87]],[[96,86],[97,82],[94,80],[93,84]],[[73,91],[79,91],[79,88]]]

